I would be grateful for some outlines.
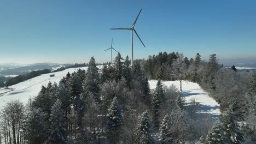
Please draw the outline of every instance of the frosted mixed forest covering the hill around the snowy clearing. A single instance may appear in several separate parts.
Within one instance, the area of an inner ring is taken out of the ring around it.
[[[1,111],[0,143],[256,143],[256,75],[224,68],[216,54],[160,52],[130,66],[120,53],[114,65],[67,73],[27,101]],[[10,79],[9,79],[10,80]],[[155,89],[149,80],[158,80]],[[162,81],[180,81],[180,87]],[[200,117],[196,101],[185,111],[182,81],[193,81],[220,104],[217,119]]]

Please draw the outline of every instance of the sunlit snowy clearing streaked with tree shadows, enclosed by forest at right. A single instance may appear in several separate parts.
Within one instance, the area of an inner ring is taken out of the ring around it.
[[[155,89],[156,80],[150,80],[150,89]],[[180,88],[181,83],[179,81],[162,81],[162,85],[167,87],[171,85]],[[189,105],[192,99],[200,103],[199,113],[207,113],[211,117],[218,117],[220,115],[219,104],[211,98],[203,89],[195,82],[182,81],[182,93],[185,97],[186,105]]]

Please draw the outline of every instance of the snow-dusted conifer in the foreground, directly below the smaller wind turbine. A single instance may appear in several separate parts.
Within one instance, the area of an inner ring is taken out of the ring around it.
[[[122,124],[123,115],[121,108],[118,104],[117,97],[114,97],[107,114],[107,133],[111,142],[117,142]]]

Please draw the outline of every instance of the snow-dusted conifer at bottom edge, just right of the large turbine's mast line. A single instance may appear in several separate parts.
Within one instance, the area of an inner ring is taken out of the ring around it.
[[[138,118],[135,137],[135,141],[137,144],[154,143],[153,137],[151,136],[150,121],[147,111],[144,111],[142,115]]]

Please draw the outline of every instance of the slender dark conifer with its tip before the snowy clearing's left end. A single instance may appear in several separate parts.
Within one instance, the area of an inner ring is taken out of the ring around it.
[[[154,111],[154,125],[155,127],[159,126],[159,109],[160,104],[164,100],[164,90],[162,89],[161,80],[158,80],[156,88],[152,97],[153,111]]]

